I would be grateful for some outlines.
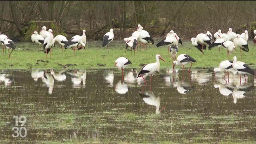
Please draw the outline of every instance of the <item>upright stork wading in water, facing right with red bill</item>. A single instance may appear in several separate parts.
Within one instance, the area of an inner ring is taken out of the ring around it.
[[[150,76],[150,84],[151,84],[151,80],[152,80],[152,76],[154,75],[154,73],[156,71],[160,71],[160,62],[159,59],[161,59],[162,61],[166,62],[163,58],[161,58],[161,56],[159,54],[156,55],[156,62],[155,63],[151,63],[151,64],[147,64],[146,66],[144,66],[142,68],[142,70],[139,72],[138,77],[142,77],[144,82],[147,84],[146,80],[144,79],[144,76]],[[137,77],[137,78],[138,78]]]

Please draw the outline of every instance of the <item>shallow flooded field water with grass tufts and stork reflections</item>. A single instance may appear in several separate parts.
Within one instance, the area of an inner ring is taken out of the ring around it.
[[[3,70],[1,143],[255,143],[253,76],[160,70],[145,86],[139,70]]]

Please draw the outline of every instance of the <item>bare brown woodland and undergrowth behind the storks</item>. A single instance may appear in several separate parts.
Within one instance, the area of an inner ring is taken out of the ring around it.
[[[115,40],[123,40],[138,24],[154,39],[174,30],[190,40],[207,30],[226,33],[230,27],[239,34],[248,30],[253,38],[255,8],[254,1],[0,1],[0,32],[18,41],[31,35],[31,21],[54,21],[47,29],[58,27],[52,29],[63,30],[68,38],[85,29],[91,40],[101,40],[110,28]]]

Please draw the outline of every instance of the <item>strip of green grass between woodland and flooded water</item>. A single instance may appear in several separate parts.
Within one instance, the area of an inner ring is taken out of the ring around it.
[[[233,56],[238,57],[238,61],[246,62],[251,67],[256,67],[256,46],[254,46],[251,40],[248,42],[250,52],[242,51],[242,59],[240,58],[240,50],[232,52],[230,54],[230,60]],[[42,51],[38,52],[38,46],[33,43],[16,43],[16,50],[12,52],[12,56],[8,59],[8,50],[6,54],[0,57],[0,69],[31,69],[31,68],[114,68],[115,60],[118,57],[126,57],[133,64],[130,68],[140,68],[140,64],[148,64],[155,62],[155,55],[160,54],[165,62],[160,62],[161,68],[172,67],[172,60],[168,56],[167,46],[161,46],[156,48],[155,45],[148,45],[148,50],[141,52],[136,51],[131,56],[131,51],[125,50],[124,42],[113,42],[109,45],[109,54],[107,49],[101,48],[101,42],[90,42],[86,47],[86,51],[83,53],[76,51],[76,57],[74,58],[74,52],[71,48],[64,50],[61,54],[60,46],[56,45],[52,48],[52,58],[46,58],[46,54]],[[42,46],[40,46],[42,49]],[[183,42],[183,46],[179,45],[179,54],[189,54],[197,63],[192,68],[202,67],[217,67],[222,60],[227,59],[226,49],[221,48],[220,52],[217,51],[217,47],[212,50],[205,50],[202,54],[199,50],[192,46],[191,42]],[[37,60],[48,60],[48,62],[37,62]],[[38,63],[38,64],[36,64]],[[61,65],[58,65],[61,64]],[[77,66],[63,66],[65,64],[76,64]],[[106,64],[106,66],[97,66],[97,64]],[[188,67],[188,66],[187,66]]]

